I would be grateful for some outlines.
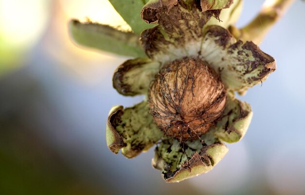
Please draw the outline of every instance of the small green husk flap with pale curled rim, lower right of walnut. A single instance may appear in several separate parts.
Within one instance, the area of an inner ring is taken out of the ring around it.
[[[216,126],[210,131],[224,142],[238,142],[246,134],[252,115],[249,104],[228,95],[226,108]]]

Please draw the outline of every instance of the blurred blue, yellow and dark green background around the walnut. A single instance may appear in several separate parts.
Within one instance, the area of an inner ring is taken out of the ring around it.
[[[263,0],[245,0],[238,27]],[[128,160],[106,146],[112,88],[128,57],[80,48],[71,18],[124,25],[107,0],[0,0],[0,195],[305,195],[305,3],[298,0],[261,49],[278,70],[240,97],[245,138],[209,173],[166,184],[153,149]]]

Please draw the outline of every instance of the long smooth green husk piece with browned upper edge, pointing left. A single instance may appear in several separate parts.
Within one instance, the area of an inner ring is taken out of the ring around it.
[[[98,23],[81,23],[78,20],[69,22],[69,30],[79,45],[125,56],[146,56],[140,46],[139,36],[132,32],[123,32]]]

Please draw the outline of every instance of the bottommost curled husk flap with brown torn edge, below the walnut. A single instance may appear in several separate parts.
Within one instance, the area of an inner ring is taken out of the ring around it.
[[[209,136],[202,136],[202,142],[196,140],[181,144],[177,140],[163,140],[155,149],[152,166],[162,171],[166,182],[179,182],[207,173],[228,152],[223,143]]]

